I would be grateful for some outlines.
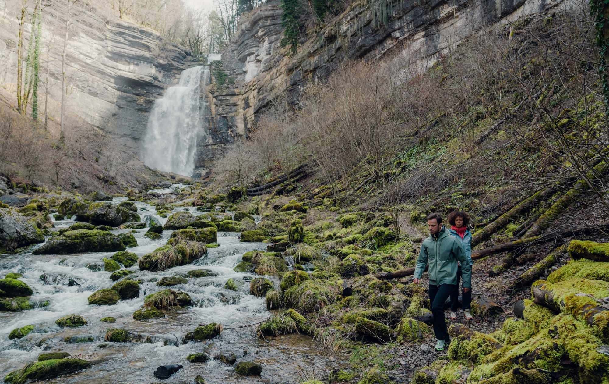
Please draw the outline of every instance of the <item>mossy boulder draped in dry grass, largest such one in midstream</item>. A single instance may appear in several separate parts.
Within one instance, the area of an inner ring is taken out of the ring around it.
[[[206,253],[205,244],[198,241],[170,241],[150,254],[139,258],[138,266],[142,271],[164,271],[174,266],[192,263]]]

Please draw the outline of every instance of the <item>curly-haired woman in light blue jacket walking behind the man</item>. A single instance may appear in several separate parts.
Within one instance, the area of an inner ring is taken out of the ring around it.
[[[474,262],[471,260],[471,233],[470,230],[467,229],[468,224],[470,224],[470,215],[467,212],[463,211],[455,211],[451,212],[448,215],[448,222],[451,224],[451,229],[449,232],[452,236],[455,236],[457,240],[461,241],[463,245],[463,250],[465,251],[465,255],[470,261],[470,265],[473,265]],[[457,269],[457,285],[455,290],[451,293],[451,320],[457,319],[457,305],[459,305],[459,280],[461,279],[461,266],[459,265]],[[473,316],[470,313],[470,304],[471,304],[471,289],[465,292],[463,290],[462,294],[462,303],[461,307],[463,308],[463,313],[465,315],[465,319],[471,320]]]

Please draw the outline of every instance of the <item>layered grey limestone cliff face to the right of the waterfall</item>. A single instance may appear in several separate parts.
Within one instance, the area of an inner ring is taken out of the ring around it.
[[[211,128],[226,137],[247,135],[256,113],[281,94],[297,105],[303,87],[325,79],[344,59],[391,55],[426,68],[464,38],[496,23],[571,7],[572,0],[396,0],[389,20],[375,18],[368,1],[356,1],[325,26],[310,30],[298,52],[280,48],[281,8],[269,2],[242,16],[237,33],[212,63]],[[378,12],[376,12],[378,13]],[[223,139],[225,140],[225,139]],[[211,155],[211,151],[208,151]]]

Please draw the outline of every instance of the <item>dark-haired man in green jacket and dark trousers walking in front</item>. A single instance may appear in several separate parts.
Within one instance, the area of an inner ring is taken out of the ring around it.
[[[457,261],[461,262],[463,291],[471,289],[471,265],[463,251],[463,246],[442,225],[442,216],[432,213],[427,216],[429,237],[421,244],[421,252],[417,259],[415,278],[418,284],[425,266],[429,263],[429,302],[434,314],[434,334],[438,342],[435,350],[444,350],[449,343],[446,319],[444,318],[444,303],[456,289]]]

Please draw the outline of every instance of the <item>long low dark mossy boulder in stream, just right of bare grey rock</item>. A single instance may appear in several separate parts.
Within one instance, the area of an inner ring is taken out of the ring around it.
[[[116,252],[124,251],[125,246],[120,236],[105,230],[70,230],[61,236],[49,239],[43,246],[35,249],[33,254],[76,254],[82,252]]]

